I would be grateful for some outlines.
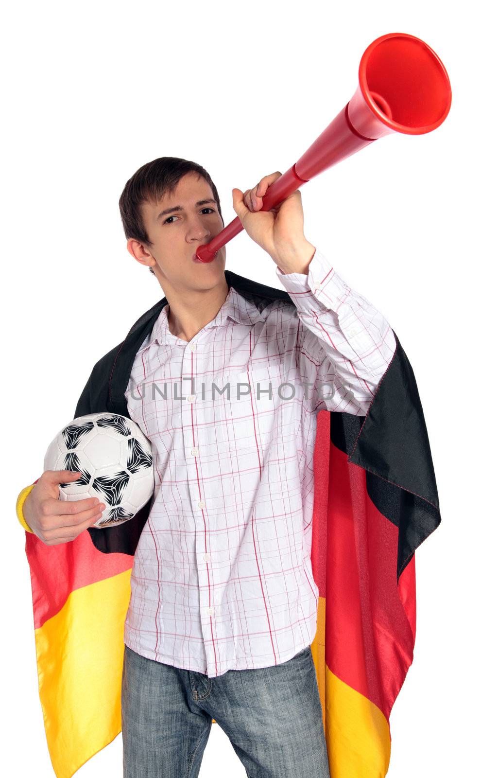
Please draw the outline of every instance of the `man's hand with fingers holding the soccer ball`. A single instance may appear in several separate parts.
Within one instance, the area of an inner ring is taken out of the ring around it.
[[[80,475],[78,471],[46,470],[26,497],[23,517],[45,545],[75,540],[101,517],[105,504],[96,497],[74,502],[60,499],[58,485],[76,481]]]

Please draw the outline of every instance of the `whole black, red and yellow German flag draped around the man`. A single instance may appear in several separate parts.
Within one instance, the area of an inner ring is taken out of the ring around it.
[[[75,417],[129,415],[131,365],[165,300],[96,363]],[[319,412],[313,464],[312,655],[330,774],[384,778],[389,715],[413,661],[414,552],[441,521],[417,384],[397,336],[367,415]],[[57,778],[70,778],[120,733],[131,568],[151,503],[118,527],[89,528],[61,545],[26,532],[40,702]]]

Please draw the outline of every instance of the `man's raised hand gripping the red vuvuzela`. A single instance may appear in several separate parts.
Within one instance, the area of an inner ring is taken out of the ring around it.
[[[307,274],[315,246],[304,236],[301,192],[292,192],[270,211],[261,210],[268,187],[281,175],[277,170],[264,176],[243,195],[240,189],[232,189],[232,205],[249,237],[270,254],[284,273]]]

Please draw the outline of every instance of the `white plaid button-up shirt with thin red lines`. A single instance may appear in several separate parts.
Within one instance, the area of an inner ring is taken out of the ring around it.
[[[385,317],[316,251],[277,277],[295,305],[232,287],[189,342],[167,304],[137,352],[127,408],[152,443],[155,495],[124,627],[144,657],[212,677],[311,644],[316,416],[366,415],[395,351]]]

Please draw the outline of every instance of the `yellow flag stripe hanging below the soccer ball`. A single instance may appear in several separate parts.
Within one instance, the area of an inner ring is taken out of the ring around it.
[[[35,631],[52,766],[71,778],[121,731],[120,682],[131,570],[75,589]]]

